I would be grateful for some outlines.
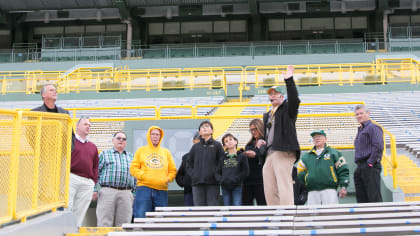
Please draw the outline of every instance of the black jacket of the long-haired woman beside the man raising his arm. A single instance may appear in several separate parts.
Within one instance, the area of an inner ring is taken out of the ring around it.
[[[262,167],[264,165],[265,153],[263,150],[255,147],[255,139],[249,145],[245,146],[246,151],[254,151],[255,157],[248,157],[249,175],[245,178],[244,184],[263,184]]]

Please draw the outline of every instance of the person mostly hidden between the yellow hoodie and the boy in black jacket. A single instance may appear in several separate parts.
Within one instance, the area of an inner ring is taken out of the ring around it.
[[[200,142],[200,134],[196,132],[193,137],[193,144]],[[191,176],[187,173],[187,160],[189,153],[182,156],[181,166],[176,173],[176,183],[184,188],[184,206],[194,206],[194,199],[192,194]]]

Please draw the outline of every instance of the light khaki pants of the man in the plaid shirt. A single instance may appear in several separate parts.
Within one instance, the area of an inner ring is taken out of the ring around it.
[[[101,188],[96,206],[98,227],[121,227],[122,224],[130,223],[133,201],[130,189]]]

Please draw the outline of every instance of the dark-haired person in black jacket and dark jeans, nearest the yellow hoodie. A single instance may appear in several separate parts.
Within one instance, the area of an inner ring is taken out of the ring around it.
[[[220,197],[219,161],[225,152],[222,144],[213,139],[209,121],[199,126],[200,142],[194,144],[187,161],[191,176],[194,206],[217,206]]]

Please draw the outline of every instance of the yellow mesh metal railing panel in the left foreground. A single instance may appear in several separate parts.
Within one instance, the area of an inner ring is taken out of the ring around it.
[[[0,110],[0,224],[68,203],[71,119]]]

